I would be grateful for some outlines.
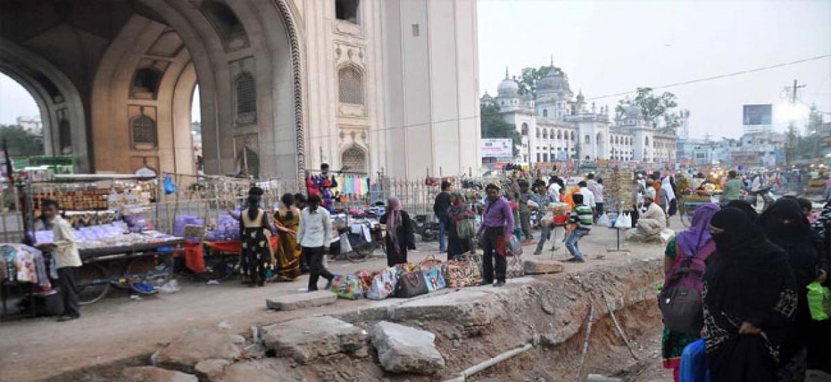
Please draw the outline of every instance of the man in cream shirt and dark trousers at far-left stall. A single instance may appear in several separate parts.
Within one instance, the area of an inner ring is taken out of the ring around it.
[[[61,288],[63,299],[63,313],[57,321],[65,322],[81,317],[81,307],[78,306],[77,279],[78,268],[81,268],[81,256],[78,254],[78,245],[75,239],[75,230],[66,220],[58,215],[57,201],[46,200],[41,202],[43,219],[52,226],[54,239],[52,244],[40,244],[37,247],[52,251],[57,268],[58,285]]]

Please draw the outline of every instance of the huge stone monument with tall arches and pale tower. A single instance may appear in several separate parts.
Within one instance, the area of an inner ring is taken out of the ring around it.
[[[194,173],[197,84],[205,173],[478,164],[475,0],[12,2],[0,17],[0,70],[36,99],[47,153],[82,172]]]

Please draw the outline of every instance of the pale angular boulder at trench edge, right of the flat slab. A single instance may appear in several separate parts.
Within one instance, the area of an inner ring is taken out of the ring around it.
[[[370,338],[388,372],[430,375],[445,366],[430,331],[382,321],[372,326]]]

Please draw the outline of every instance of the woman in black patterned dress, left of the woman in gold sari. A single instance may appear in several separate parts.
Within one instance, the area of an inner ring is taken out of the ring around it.
[[[272,268],[268,233],[273,233],[268,213],[259,208],[260,197],[249,195],[247,208],[239,216],[239,238],[242,241],[241,268],[251,278],[252,287],[265,285],[266,273]]]

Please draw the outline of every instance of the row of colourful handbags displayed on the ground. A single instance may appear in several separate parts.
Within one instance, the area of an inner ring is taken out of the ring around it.
[[[524,264],[518,256],[508,256],[508,278],[524,276]],[[427,256],[420,263],[398,264],[395,267],[367,272],[336,274],[332,292],[338,297],[356,300],[366,297],[409,298],[443,288],[473,287],[482,281],[482,256],[468,253],[459,260],[441,261]]]

